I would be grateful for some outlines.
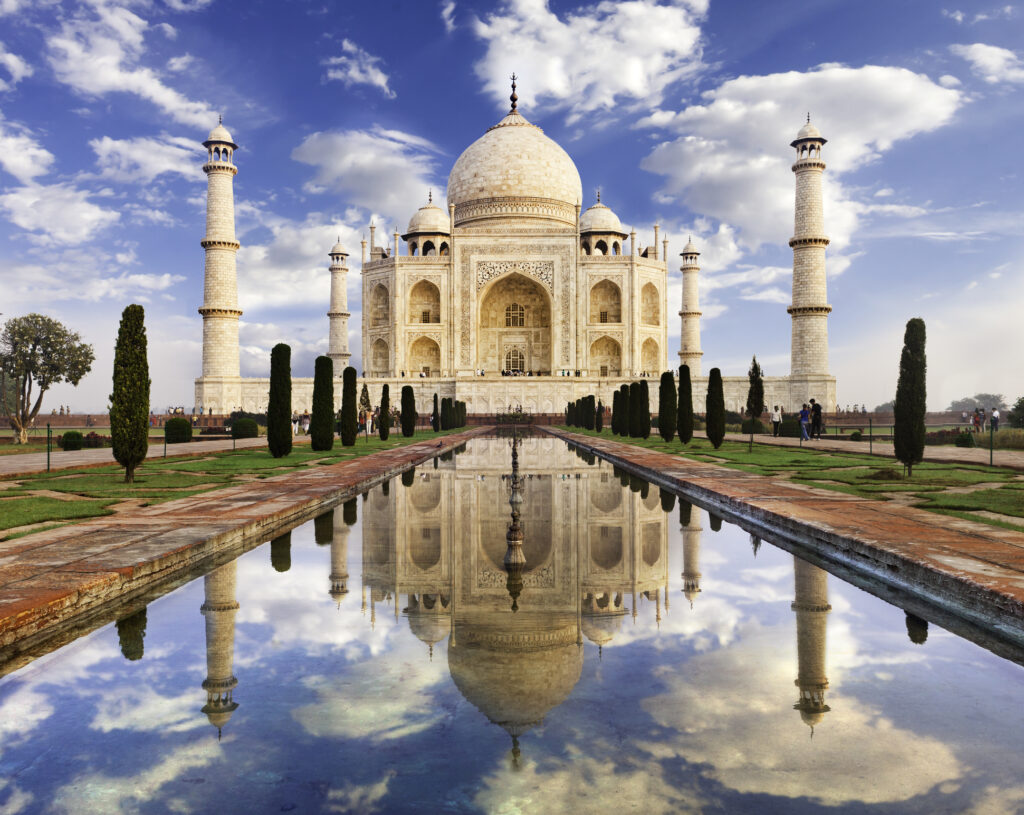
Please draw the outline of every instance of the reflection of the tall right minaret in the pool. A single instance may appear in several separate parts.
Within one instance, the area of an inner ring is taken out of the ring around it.
[[[828,573],[806,560],[793,559],[796,593],[793,610],[797,612],[797,681],[800,699],[795,711],[810,726],[818,724],[829,707],[825,704],[825,635],[828,625]]]

